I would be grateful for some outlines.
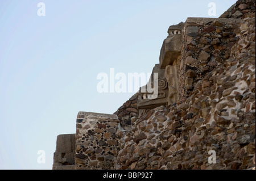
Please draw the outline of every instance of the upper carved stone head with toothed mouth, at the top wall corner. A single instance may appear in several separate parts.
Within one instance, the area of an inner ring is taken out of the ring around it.
[[[181,50],[181,30],[183,27],[184,23],[180,22],[168,28],[168,36],[163,41],[160,50],[159,62],[161,69],[165,69],[167,65],[172,65],[177,57],[179,57]]]

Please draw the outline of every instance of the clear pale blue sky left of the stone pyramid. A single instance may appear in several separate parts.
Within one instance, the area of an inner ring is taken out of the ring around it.
[[[1,0],[0,169],[52,169],[56,137],[75,133],[79,111],[114,113],[135,93],[98,92],[98,73],[151,73],[170,25],[235,2]]]

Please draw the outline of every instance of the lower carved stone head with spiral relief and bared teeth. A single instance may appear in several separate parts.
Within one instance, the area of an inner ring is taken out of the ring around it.
[[[148,92],[147,85],[141,87],[138,91],[137,107],[139,109],[151,109],[162,105],[166,106],[168,102],[167,81],[164,77],[164,70],[160,69],[160,64],[156,64],[152,70],[152,74],[150,77],[152,88],[154,88],[154,73],[158,73],[158,94],[156,98],[152,98],[154,92]],[[142,90],[146,90],[146,92]]]

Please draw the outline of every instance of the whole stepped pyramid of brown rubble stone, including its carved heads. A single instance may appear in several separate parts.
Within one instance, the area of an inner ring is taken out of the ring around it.
[[[141,87],[113,115],[79,112],[53,169],[255,169],[255,1],[170,26],[154,73],[156,99]]]

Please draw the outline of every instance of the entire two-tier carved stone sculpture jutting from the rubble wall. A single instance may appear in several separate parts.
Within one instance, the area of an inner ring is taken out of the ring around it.
[[[181,50],[181,30],[184,23],[168,28],[168,36],[163,41],[160,51],[160,64],[156,64],[151,74],[151,84],[154,79],[153,73],[158,73],[158,95],[155,99],[150,98],[153,93],[147,91],[147,86],[140,88],[138,92],[138,108],[151,109],[159,106],[166,106],[177,102],[177,73],[176,67],[171,66]],[[166,68],[168,66],[168,68]],[[166,69],[166,70],[165,70]],[[146,91],[143,91],[146,90]]]

